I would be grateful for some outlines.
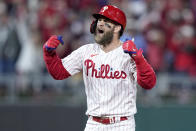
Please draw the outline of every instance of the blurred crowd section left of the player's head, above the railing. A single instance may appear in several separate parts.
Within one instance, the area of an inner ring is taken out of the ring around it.
[[[102,1],[0,0],[0,73],[44,72],[42,45],[63,35],[62,58],[90,38],[90,14]]]

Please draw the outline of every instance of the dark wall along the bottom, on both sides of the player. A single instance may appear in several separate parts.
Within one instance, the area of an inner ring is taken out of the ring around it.
[[[62,105],[0,106],[1,131],[82,131],[85,107]],[[196,107],[139,107],[137,131],[195,131]]]

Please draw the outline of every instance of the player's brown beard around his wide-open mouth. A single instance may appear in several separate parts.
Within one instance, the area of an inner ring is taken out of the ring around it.
[[[98,31],[96,30],[94,35],[95,42],[103,46],[109,45],[113,39],[113,32],[114,32],[114,28],[108,32],[104,32],[104,34],[102,35],[99,34]]]

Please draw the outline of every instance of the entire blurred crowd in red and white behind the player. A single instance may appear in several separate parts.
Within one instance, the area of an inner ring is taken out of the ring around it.
[[[0,0],[0,73],[46,73],[42,46],[63,35],[63,58],[92,43],[92,13],[103,5],[127,16],[121,40],[134,37],[157,73],[196,76],[196,0]]]

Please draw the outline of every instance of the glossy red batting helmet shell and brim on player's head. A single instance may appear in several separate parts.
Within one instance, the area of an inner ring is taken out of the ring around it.
[[[117,8],[116,6],[106,5],[101,8],[98,14],[93,14],[93,17],[98,19],[101,16],[104,16],[118,24],[122,25],[123,30],[126,27],[126,16],[125,13]]]

